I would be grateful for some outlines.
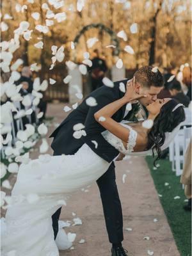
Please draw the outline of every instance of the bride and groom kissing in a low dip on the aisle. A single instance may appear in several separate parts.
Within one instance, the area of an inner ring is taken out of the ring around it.
[[[5,217],[3,256],[11,251],[15,256],[58,256],[55,239],[61,206],[70,193],[95,181],[111,255],[128,255],[122,246],[123,216],[114,161],[147,150],[154,153],[154,162],[161,157],[166,134],[185,119],[182,104],[157,99],[162,88],[161,72],[150,66],[140,68],[129,81],[115,82],[113,88],[98,88],[51,134],[54,156],[20,165]],[[145,125],[136,120],[138,106],[145,109]],[[67,244],[66,239],[63,246]]]

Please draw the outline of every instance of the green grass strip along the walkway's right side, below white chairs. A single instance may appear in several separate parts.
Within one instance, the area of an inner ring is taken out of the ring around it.
[[[166,159],[158,161],[160,166],[157,170],[154,170],[152,157],[147,156],[146,161],[180,255],[191,256],[191,212],[183,209],[186,197],[180,177],[172,172],[172,165]],[[174,199],[175,196],[180,198]]]

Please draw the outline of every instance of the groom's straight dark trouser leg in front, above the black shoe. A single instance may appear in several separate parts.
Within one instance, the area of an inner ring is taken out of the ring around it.
[[[102,199],[102,207],[108,230],[109,242],[118,244],[124,240],[123,216],[120,198],[115,181],[115,164],[109,166],[104,175],[97,180]]]

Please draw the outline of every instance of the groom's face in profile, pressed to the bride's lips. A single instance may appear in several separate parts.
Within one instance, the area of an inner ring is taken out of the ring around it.
[[[140,86],[139,93],[147,95],[147,97],[145,98],[143,97],[139,100],[140,103],[146,107],[148,106],[148,104],[151,104],[152,102],[156,101],[157,94],[159,94],[159,92],[161,92],[162,89],[163,89],[163,86],[162,87],[150,86],[149,88]]]

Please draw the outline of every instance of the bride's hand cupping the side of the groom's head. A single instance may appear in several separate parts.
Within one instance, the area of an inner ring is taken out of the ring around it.
[[[136,92],[135,77],[133,77],[131,80],[127,81],[126,88],[127,88],[127,90],[125,92],[124,97],[127,100],[127,102],[135,103],[135,102],[137,102],[138,99],[140,99],[142,97],[147,97],[147,95],[140,94],[140,93]]]

